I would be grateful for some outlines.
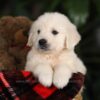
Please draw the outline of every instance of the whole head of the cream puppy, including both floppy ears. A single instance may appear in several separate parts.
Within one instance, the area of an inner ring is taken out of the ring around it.
[[[45,13],[32,25],[28,46],[42,51],[61,51],[74,49],[80,41],[76,27],[60,13]]]

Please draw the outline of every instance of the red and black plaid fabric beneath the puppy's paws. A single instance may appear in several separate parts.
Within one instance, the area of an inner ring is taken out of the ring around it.
[[[63,89],[42,86],[27,71],[0,72],[0,100],[72,100],[84,84],[84,75],[74,73]]]

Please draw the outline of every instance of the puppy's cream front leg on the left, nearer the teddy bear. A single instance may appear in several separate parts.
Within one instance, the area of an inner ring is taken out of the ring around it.
[[[47,87],[51,86],[53,70],[49,64],[39,64],[35,66],[33,73],[41,84]]]

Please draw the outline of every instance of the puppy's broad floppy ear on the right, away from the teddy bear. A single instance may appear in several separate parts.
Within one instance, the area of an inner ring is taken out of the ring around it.
[[[80,41],[81,36],[79,35],[75,25],[69,25],[66,33],[66,48],[67,49],[74,49],[74,47]]]

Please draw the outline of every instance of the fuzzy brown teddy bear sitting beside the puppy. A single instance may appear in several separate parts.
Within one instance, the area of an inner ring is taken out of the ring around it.
[[[0,69],[24,67],[30,26],[31,20],[23,16],[6,16],[0,19]]]

